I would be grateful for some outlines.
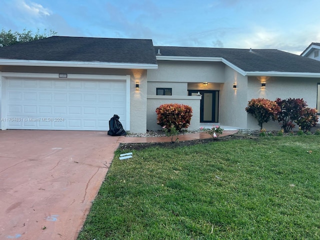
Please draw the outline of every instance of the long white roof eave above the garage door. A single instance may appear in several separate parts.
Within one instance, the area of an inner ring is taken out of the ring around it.
[[[92,62],[92,61],[43,61],[43,60],[18,60],[18,59],[0,59],[0,65],[133,68],[133,69],[157,69],[158,68],[157,64],[148,64],[148,63],[119,63],[119,62]]]

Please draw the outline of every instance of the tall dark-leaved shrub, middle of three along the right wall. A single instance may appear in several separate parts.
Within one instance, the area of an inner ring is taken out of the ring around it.
[[[277,120],[284,132],[289,132],[295,126],[293,122],[299,119],[301,111],[307,104],[303,98],[277,98],[275,102],[281,109],[278,112]]]

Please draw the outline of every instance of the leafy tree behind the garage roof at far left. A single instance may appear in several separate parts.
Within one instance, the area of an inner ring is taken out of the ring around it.
[[[0,47],[10,46],[20,42],[27,42],[42,39],[48,36],[56,35],[56,31],[44,29],[44,33],[40,33],[39,29],[33,34],[31,30],[23,29],[22,32],[13,32],[11,30],[5,31],[3,28],[0,32]]]

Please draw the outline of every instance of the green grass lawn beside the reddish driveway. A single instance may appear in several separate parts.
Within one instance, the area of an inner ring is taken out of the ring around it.
[[[78,239],[320,239],[319,136],[120,153]]]

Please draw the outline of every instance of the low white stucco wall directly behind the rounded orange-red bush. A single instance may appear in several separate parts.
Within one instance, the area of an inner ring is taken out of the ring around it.
[[[159,130],[161,126],[156,123],[155,109],[161,104],[178,103],[185,104],[192,108],[192,117],[188,130],[199,129],[200,122],[200,99],[201,96],[160,96],[160,95],[148,95],[147,96],[147,130]]]

